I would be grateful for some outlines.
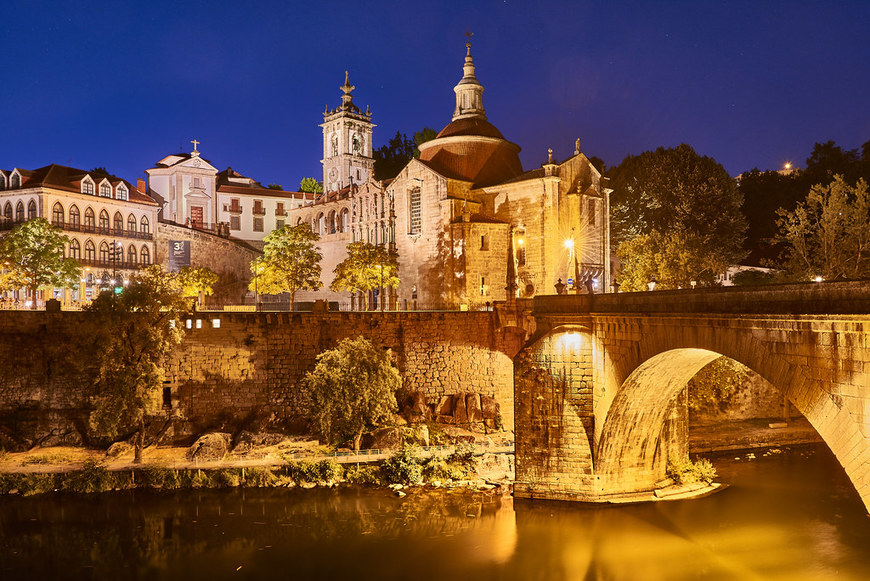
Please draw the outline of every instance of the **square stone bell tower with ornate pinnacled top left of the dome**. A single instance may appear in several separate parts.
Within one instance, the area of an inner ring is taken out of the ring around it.
[[[323,191],[335,192],[365,183],[374,172],[372,158],[372,114],[353,104],[354,86],[344,72],[341,105],[323,112]]]

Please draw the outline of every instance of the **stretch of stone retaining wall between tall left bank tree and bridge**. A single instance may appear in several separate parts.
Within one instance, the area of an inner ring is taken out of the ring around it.
[[[168,375],[178,407],[197,424],[296,417],[297,383],[316,356],[362,335],[392,351],[404,388],[433,403],[462,392],[492,396],[513,428],[512,357],[522,337],[496,328],[492,312],[222,313],[190,327]]]

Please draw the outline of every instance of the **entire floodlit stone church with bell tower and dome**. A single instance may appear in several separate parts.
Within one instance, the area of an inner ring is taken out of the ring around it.
[[[542,167],[524,171],[520,147],[487,120],[471,43],[462,72],[450,122],[384,181],[373,174],[371,111],[353,103],[345,76],[341,104],[324,111],[321,125],[326,193],[288,213],[288,224],[311,224],[323,253],[324,287],[297,300],[350,301],[329,284],[355,241],[398,252],[399,287],[371,297],[386,309],[477,309],[511,296],[609,288],[606,178],[579,139],[568,159],[551,151]]]

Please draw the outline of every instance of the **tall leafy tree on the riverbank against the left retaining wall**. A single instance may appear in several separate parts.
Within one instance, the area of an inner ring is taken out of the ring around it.
[[[158,265],[133,276],[124,292],[101,293],[84,309],[82,357],[96,365],[91,427],[116,437],[135,426],[134,462],[142,461],[145,417],[163,387],[163,365],[181,341],[174,321],[186,311],[178,277]]]

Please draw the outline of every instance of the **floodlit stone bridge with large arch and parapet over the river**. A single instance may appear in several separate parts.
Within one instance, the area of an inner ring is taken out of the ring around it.
[[[719,356],[779,388],[870,510],[870,283],[538,297],[514,363],[516,495],[648,491],[687,454],[686,382]]]

